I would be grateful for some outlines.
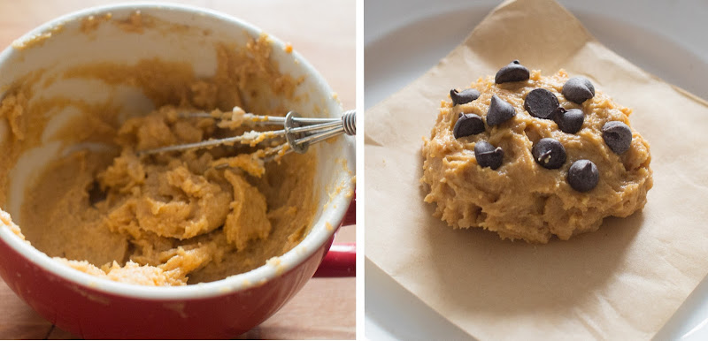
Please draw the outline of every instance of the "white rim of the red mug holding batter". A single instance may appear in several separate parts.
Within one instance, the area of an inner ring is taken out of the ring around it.
[[[63,26],[65,23],[87,18],[90,15],[101,15],[107,12],[115,14],[116,12],[124,13],[131,11],[144,11],[150,14],[150,11],[174,11],[184,14],[198,14],[211,17],[219,20],[227,26],[240,27],[244,29],[251,37],[258,37],[264,33],[258,27],[235,18],[219,11],[206,9],[185,4],[167,4],[153,2],[136,2],[124,4],[107,4],[89,7],[80,11],[67,13],[57,19],[52,19],[39,27],[20,36],[15,42],[30,39],[33,36],[50,32],[58,26]],[[273,48],[284,49],[286,44],[277,37],[267,34],[269,42]],[[0,53],[0,65],[6,63],[14,54],[21,53],[13,48],[12,43]],[[303,68],[305,74],[312,75],[317,83],[317,87],[322,90],[323,94],[334,94],[331,87],[322,75],[314,69],[312,64],[304,59],[296,50],[293,50],[290,55],[295,58],[296,63]],[[335,104],[342,110],[342,105],[335,96],[326,96],[327,101],[334,101]],[[346,149],[346,148],[345,148]],[[353,155],[345,150],[342,153],[342,159],[348,164],[353,161]],[[348,166],[349,168],[349,166]],[[353,178],[354,168],[350,168],[350,174],[347,175],[342,167],[342,175],[345,178]],[[321,246],[331,239],[336,231],[332,226],[328,226],[328,222],[339,222],[349,208],[352,196],[350,193],[354,191],[353,181],[342,181],[341,190],[327,202],[327,208],[323,209],[319,221],[312,222],[312,226],[308,234],[295,247],[287,253],[273,258],[278,261],[267,261],[266,264],[252,269],[248,272],[226,277],[214,282],[189,284],[181,286],[146,286],[139,284],[127,284],[112,281],[107,278],[95,277],[80,270],[73,269],[68,265],[62,264],[59,261],[53,260],[49,255],[39,251],[34,246],[31,246],[26,240],[19,238],[9,226],[0,221],[0,241],[4,241],[8,246],[27,261],[31,261],[45,271],[61,277],[72,284],[79,284],[86,289],[95,290],[97,292],[105,292],[108,294],[123,296],[135,299],[150,299],[150,300],[185,300],[185,299],[206,299],[218,296],[224,296],[233,292],[240,292],[251,287],[260,286],[270,282],[275,277],[281,277],[291,269],[308,260]]]

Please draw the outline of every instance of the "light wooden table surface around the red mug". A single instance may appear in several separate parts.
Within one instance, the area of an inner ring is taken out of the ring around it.
[[[125,1],[122,1],[125,2]],[[119,3],[110,0],[17,0],[0,2],[0,46],[9,46],[34,27],[71,11]],[[339,95],[345,109],[355,106],[355,0],[192,0],[178,1],[222,11],[292,43]],[[354,226],[342,227],[337,241],[354,241]],[[313,278],[269,320],[235,338],[356,337],[355,280]],[[0,339],[66,339],[19,299],[0,279]]]

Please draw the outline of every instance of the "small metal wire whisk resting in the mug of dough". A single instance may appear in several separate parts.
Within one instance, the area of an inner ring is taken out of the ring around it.
[[[215,118],[205,112],[189,113],[181,116]],[[223,139],[204,140],[195,143],[141,150],[138,151],[137,154],[151,155],[196,148],[210,148],[219,145],[233,145],[235,143],[254,146],[262,140],[284,137],[286,140],[285,143],[266,150],[265,155],[268,155],[268,157],[264,160],[267,162],[273,160],[275,155],[286,155],[291,151],[304,154],[310,145],[341,135],[342,133],[346,133],[347,135],[355,135],[357,133],[355,110],[345,111],[341,118],[300,117],[295,111],[290,111],[285,117],[244,114],[243,118],[243,125],[282,125],[283,129],[266,132],[251,131],[239,136]]]

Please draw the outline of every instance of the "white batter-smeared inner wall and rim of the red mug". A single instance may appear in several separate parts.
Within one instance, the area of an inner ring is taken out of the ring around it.
[[[142,34],[127,33],[116,25],[108,24],[99,25],[89,34],[81,32],[81,20],[89,15],[102,18],[106,13],[111,13],[112,20],[119,20],[127,19],[135,11],[158,19],[157,25],[146,28]],[[52,33],[49,39],[36,41],[36,36],[47,32]],[[26,45],[25,49],[13,47],[5,49],[0,54],[0,89],[5,92],[28,72],[44,69],[42,80],[53,78],[54,82],[46,88],[37,86],[30,101],[58,95],[79,96],[86,102],[119,103],[122,107],[121,114],[125,115],[135,112],[148,113],[154,109],[154,106],[137,88],[115,87],[101,80],[62,76],[65,70],[77,65],[98,62],[135,64],[142,59],[157,57],[164,61],[191,64],[197,76],[208,77],[213,75],[217,67],[214,43],[229,42],[244,46],[250,37],[258,38],[260,34],[262,32],[258,28],[238,19],[188,6],[122,4],[97,7],[56,19],[13,43],[15,47]],[[342,113],[341,104],[319,72],[295,51],[287,52],[283,42],[274,37],[270,39],[273,44],[271,58],[279,65],[281,73],[290,74],[294,78],[304,77],[304,81],[296,88],[296,100],[273,98],[272,104],[285,101],[287,108],[296,110],[305,117],[339,117]],[[42,84],[42,80],[35,84]],[[4,93],[0,95],[2,96]],[[248,98],[245,100],[249,101]],[[77,146],[67,146],[61,140],[53,140],[51,134],[55,129],[69,122],[76,113],[75,110],[68,108],[55,111],[48,113],[52,118],[42,135],[42,146],[23,154],[10,174],[8,204],[3,209],[11,214],[20,228],[22,218],[19,216],[19,208],[25,186],[33,181],[44,164],[58,155],[65,155],[72,148],[77,148]],[[8,134],[8,126],[4,120],[0,120],[0,141],[4,141],[0,142],[0,148],[7,148],[5,144]],[[87,148],[87,146],[79,147]],[[89,147],[101,148],[101,146]],[[310,233],[298,246],[282,255],[280,262],[269,262],[258,269],[224,280],[165,288],[122,284],[91,277],[59,265],[46,254],[21,242],[7,228],[0,227],[0,238],[31,261],[61,277],[121,295],[150,299],[179,299],[241,290],[277,276],[303,261],[332,236],[334,233],[332,225],[341,220],[348,207],[350,195],[353,193],[354,139],[337,138],[334,142],[321,143],[317,148],[311,149],[315,150],[308,153],[318,158],[314,190],[315,197],[319,198],[319,209]]]

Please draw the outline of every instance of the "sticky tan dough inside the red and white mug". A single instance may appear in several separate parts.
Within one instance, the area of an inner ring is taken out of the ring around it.
[[[240,117],[242,110],[231,109],[244,105],[241,91],[293,98],[301,80],[280,74],[267,61],[271,45],[266,35],[245,50],[223,44],[214,49],[218,69],[209,79],[197,79],[187,64],[159,59],[88,64],[65,72],[65,77],[138,87],[158,107],[122,123],[116,108],[80,99],[27,102],[32,81],[11,90],[0,103],[0,118],[7,120],[12,139],[12,150],[5,151],[9,162],[0,166],[5,177],[18,155],[41,143],[49,108],[82,111],[82,117],[56,133],[61,140],[114,146],[108,151],[82,149],[50,163],[26,188],[17,233],[74,269],[144,285],[219,280],[258,268],[296,246],[317,208],[312,155],[263,163],[247,145],[135,154],[252,129],[237,123],[219,127],[208,117],[181,118],[178,111]],[[269,105],[252,98],[245,109],[277,116],[287,112]],[[233,148],[239,156],[234,157]],[[220,163],[231,168],[216,169]],[[4,205],[5,197],[0,199]]]

